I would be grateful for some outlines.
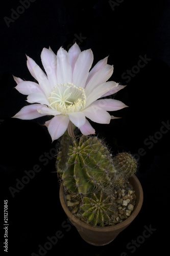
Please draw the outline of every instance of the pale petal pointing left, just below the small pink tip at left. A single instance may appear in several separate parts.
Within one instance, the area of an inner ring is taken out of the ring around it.
[[[43,93],[38,83],[31,81],[22,81],[17,84],[15,89],[25,95],[29,95],[31,93]]]

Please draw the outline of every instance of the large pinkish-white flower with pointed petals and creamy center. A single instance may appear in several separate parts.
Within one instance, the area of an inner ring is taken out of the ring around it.
[[[90,49],[81,52],[79,46],[74,44],[68,52],[61,47],[56,56],[51,48],[44,48],[41,61],[46,74],[32,58],[27,58],[28,69],[38,83],[14,77],[17,82],[15,88],[28,95],[27,101],[34,104],[24,106],[14,117],[34,119],[54,116],[45,122],[52,140],[64,134],[70,121],[82,134],[94,134],[86,117],[97,123],[109,123],[115,117],[107,111],[126,107],[115,99],[100,99],[125,87],[114,81],[106,82],[113,73],[113,66],[107,64],[107,57],[90,70],[93,62]]]

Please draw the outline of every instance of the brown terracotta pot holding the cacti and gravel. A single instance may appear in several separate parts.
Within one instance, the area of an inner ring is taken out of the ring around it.
[[[109,226],[109,227],[93,227],[89,224],[82,222],[81,220],[76,218],[74,215],[72,215],[66,204],[64,187],[63,185],[60,186],[60,202],[65,211],[65,214],[67,215],[71,223],[75,225],[80,236],[87,243],[95,246],[102,246],[102,245],[109,244],[117,237],[117,235],[121,231],[123,231],[127,226],[129,226],[129,224],[138,215],[143,202],[143,190],[138,178],[135,175],[133,175],[129,179],[129,181],[132,184],[136,194],[136,204],[135,204],[134,210],[131,216],[128,217],[128,219],[124,220],[122,223],[116,224],[115,226]]]

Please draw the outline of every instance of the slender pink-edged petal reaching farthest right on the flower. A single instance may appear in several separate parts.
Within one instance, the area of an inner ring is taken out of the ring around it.
[[[91,103],[90,106],[97,106],[106,111],[117,111],[127,107],[122,101],[116,99],[99,99]]]

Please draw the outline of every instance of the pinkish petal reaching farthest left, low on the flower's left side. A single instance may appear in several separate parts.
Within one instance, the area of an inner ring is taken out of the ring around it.
[[[45,105],[40,104],[31,104],[28,106],[24,106],[18,113],[16,113],[15,118],[23,119],[23,120],[31,120],[42,115],[39,113],[39,110],[43,108]]]

